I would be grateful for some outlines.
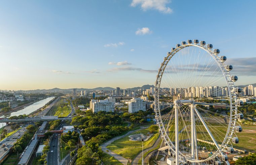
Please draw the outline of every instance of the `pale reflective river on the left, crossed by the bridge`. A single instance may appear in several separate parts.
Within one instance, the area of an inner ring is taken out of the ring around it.
[[[17,112],[12,112],[12,113],[10,113],[10,114],[8,114],[8,115],[6,115],[6,116],[3,115],[3,116],[1,116],[0,118],[10,117],[10,116],[19,116],[19,115],[23,115],[23,114],[28,115],[28,114],[30,114],[30,113],[36,111],[37,109],[43,107],[45,104],[47,104],[47,103],[48,103],[49,101],[51,101],[53,98],[55,98],[55,97],[48,97],[48,98],[46,98],[46,99],[40,100],[40,101],[38,101],[38,102],[35,102],[35,103],[31,104],[30,106],[27,106],[27,107],[24,108],[24,109],[21,109],[21,110],[19,110],[19,111],[17,111]],[[5,126],[5,125],[6,125],[6,123],[0,123],[0,128],[2,128],[2,127]]]

